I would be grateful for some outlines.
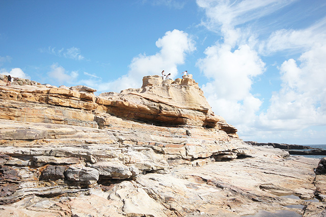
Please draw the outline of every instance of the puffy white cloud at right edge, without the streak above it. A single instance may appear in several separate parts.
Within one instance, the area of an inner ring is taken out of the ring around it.
[[[298,61],[284,61],[280,68],[282,88],[274,92],[270,106],[260,114],[260,125],[301,130],[326,125],[326,41],[304,52]]]

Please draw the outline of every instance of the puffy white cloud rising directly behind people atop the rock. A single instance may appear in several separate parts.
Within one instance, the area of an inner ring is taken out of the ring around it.
[[[162,70],[171,73],[171,78],[178,74],[177,67],[184,64],[187,53],[194,51],[195,42],[188,34],[174,29],[166,32],[155,45],[160,48],[154,55],[140,54],[131,60],[129,72],[115,81],[98,84],[98,91],[117,91],[126,88],[139,88],[146,75],[160,75]]]

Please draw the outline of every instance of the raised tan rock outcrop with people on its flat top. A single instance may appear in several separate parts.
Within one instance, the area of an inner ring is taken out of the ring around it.
[[[142,88],[105,93],[100,98],[110,105],[107,112],[116,116],[160,125],[217,128],[237,137],[237,130],[211,111],[203,91],[192,78],[163,81],[158,75],[146,76]]]

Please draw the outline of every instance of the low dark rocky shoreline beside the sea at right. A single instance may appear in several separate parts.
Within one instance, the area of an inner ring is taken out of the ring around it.
[[[306,145],[284,144],[284,143],[259,143],[246,141],[245,143],[256,146],[273,146],[274,148],[280,148],[289,152],[289,154],[296,155],[320,155],[326,156],[326,150],[322,148],[313,148]],[[308,150],[307,150],[308,149]]]

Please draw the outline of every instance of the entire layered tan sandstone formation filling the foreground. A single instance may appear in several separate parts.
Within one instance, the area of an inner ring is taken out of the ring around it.
[[[1,216],[324,211],[318,161],[243,143],[193,79],[94,91],[0,83]]]

